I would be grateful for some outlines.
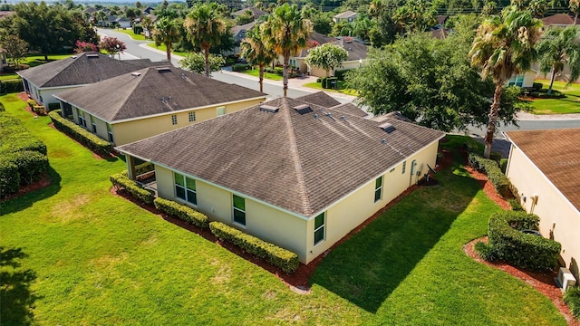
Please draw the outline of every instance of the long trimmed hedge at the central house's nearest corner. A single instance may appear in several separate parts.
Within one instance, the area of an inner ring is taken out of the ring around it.
[[[219,239],[237,245],[249,254],[266,259],[268,263],[279,267],[285,273],[295,273],[298,269],[298,255],[289,250],[270,244],[256,236],[247,235],[221,222],[209,223],[209,229]]]

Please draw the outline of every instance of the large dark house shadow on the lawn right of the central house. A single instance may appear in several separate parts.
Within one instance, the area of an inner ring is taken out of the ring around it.
[[[439,186],[415,190],[334,249],[310,283],[377,312],[480,189],[476,180],[454,175],[451,168],[437,177]]]

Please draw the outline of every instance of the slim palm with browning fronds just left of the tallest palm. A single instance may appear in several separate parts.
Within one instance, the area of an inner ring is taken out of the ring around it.
[[[266,47],[258,26],[247,31],[246,38],[242,40],[239,47],[242,57],[247,61],[257,65],[260,76],[260,91],[264,91],[264,67],[275,59],[275,52]]]

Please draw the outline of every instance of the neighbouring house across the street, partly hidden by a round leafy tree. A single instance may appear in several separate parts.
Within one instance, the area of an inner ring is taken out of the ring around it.
[[[330,37],[314,32],[310,36],[308,43],[314,44],[314,46],[322,45],[324,43],[333,43],[346,50],[348,53],[348,59],[343,62],[342,67],[337,67],[335,71],[359,68],[362,65],[362,62],[366,61],[367,53],[369,52],[366,44],[349,36]],[[324,71],[324,69],[306,64],[306,56],[308,55],[309,50],[310,49],[308,48],[302,49],[299,53],[296,53],[295,56],[290,57],[290,65],[295,67],[298,72],[306,72],[316,77],[326,76],[326,71]],[[278,62],[282,62],[282,60],[282,58],[279,58]],[[334,72],[330,72],[331,75],[333,75],[333,73]]]

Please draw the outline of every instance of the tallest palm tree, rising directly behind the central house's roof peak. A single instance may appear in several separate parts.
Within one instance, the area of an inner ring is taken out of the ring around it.
[[[261,25],[266,46],[284,57],[284,96],[288,91],[290,56],[306,46],[312,34],[312,22],[303,19],[296,5],[280,5]]]

